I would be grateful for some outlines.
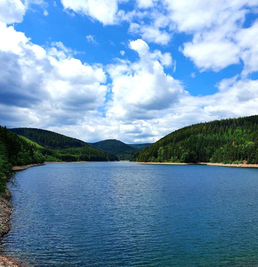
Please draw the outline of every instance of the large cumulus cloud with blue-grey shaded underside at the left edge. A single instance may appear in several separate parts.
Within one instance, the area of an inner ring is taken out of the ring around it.
[[[12,26],[0,24],[0,103],[24,110],[48,123],[74,123],[80,112],[96,113],[105,101],[106,75],[98,65],[72,57],[61,42],[44,49]]]

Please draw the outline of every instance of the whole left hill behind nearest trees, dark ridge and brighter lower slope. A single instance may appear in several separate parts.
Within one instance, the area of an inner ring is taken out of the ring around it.
[[[45,161],[108,161],[118,157],[84,141],[37,128],[11,128],[19,136],[37,143]]]

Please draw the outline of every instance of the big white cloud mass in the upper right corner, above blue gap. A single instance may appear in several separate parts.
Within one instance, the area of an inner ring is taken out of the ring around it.
[[[219,71],[238,64],[240,58],[246,64],[245,70],[252,70],[247,66],[247,59],[250,59],[250,53],[255,55],[255,51],[243,40],[255,35],[257,25],[249,30],[242,27],[251,8],[257,7],[257,1],[165,0],[165,3],[172,28],[176,26],[178,31],[193,35],[192,41],[183,45],[182,52],[200,71]],[[247,48],[248,52],[243,52]]]

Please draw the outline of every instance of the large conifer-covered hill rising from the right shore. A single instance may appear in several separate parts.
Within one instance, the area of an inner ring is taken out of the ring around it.
[[[145,147],[137,161],[258,163],[258,115],[186,126]]]

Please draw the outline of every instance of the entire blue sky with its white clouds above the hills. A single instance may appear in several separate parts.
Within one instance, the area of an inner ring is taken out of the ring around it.
[[[258,0],[0,0],[0,124],[155,142],[258,114]]]

